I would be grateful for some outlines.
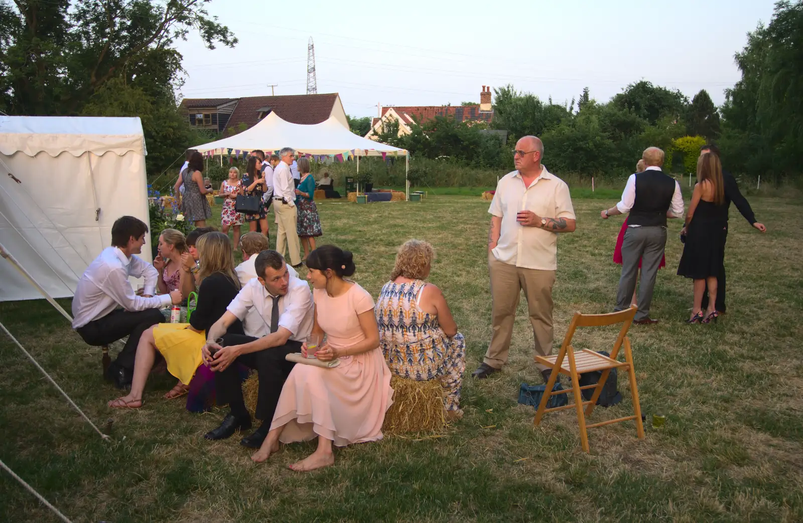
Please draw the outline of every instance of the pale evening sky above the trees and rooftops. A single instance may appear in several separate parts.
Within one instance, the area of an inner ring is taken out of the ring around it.
[[[641,79],[714,103],[740,74],[733,60],[771,0],[214,0],[210,14],[239,39],[233,49],[179,44],[186,98],[300,95],[307,42],[315,42],[319,93],[345,111],[382,105],[479,103],[483,85],[512,83],[555,103],[588,86],[606,101]],[[249,65],[251,64],[251,65]]]

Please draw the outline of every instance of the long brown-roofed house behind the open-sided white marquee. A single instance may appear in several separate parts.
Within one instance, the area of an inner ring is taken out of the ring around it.
[[[292,124],[320,124],[334,116],[349,128],[340,95],[243,96],[242,98],[185,98],[179,105],[190,125],[231,136],[275,112]]]

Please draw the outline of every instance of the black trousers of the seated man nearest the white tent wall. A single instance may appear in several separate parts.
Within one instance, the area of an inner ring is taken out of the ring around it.
[[[93,346],[108,345],[128,336],[125,347],[112,363],[119,367],[134,370],[134,358],[137,356],[137,345],[145,330],[157,323],[164,323],[165,316],[158,309],[146,309],[137,312],[128,310],[112,310],[103,318],[98,318],[75,329],[86,343]]]

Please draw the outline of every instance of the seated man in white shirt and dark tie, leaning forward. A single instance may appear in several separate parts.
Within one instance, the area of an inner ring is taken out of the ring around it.
[[[239,373],[232,363],[243,363],[259,374],[255,414],[262,424],[240,441],[248,448],[259,448],[271,428],[282,386],[294,365],[284,356],[301,351],[312,331],[314,314],[309,285],[291,276],[281,254],[263,250],[256,257],[255,270],[258,277],[243,286],[226,313],[210,327],[202,349],[203,361],[216,373],[218,403],[229,403],[231,409],[220,427],[206,433],[207,440],[222,440],[251,428]],[[253,309],[262,322],[254,336],[226,334],[232,323],[243,320]],[[210,341],[218,337],[223,340],[219,345]]]

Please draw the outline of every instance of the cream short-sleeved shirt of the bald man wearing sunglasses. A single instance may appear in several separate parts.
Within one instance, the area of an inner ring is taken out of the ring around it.
[[[491,251],[508,265],[524,269],[557,269],[557,233],[540,226],[525,227],[516,221],[520,211],[528,210],[545,218],[574,220],[569,185],[541,165],[541,173],[529,187],[518,171],[508,172],[496,184],[488,213],[502,218],[499,242]],[[540,225],[540,224],[539,224]]]

